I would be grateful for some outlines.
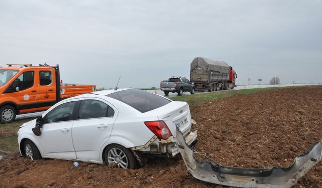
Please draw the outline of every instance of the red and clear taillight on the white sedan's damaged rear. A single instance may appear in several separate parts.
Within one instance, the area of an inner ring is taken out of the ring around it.
[[[160,139],[166,140],[169,136],[172,136],[168,125],[164,121],[145,121],[144,124]]]

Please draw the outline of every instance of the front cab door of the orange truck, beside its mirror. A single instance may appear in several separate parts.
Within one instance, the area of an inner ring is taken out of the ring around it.
[[[8,94],[10,94],[12,101],[19,106],[20,113],[33,111],[33,108],[37,108],[36,100],[38,94],[37,86],[35,85],[35,72],[23,72],[13,83],[17,83],[19,91],[8,92]]]

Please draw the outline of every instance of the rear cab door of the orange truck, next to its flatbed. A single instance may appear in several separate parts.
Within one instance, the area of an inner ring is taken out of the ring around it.
[[[56,82],[54,69],[37,70],[37,99],[39,110],[48,109],[56,103]]]

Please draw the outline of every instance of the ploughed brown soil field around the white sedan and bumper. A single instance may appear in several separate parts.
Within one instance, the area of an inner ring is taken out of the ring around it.
[[[222,165],[288,166],[322,138],[322,87],[275,89],[191,107],[195,149]],[[213,187],[187,172],[181,158],[117,169],[73,161],[31,161],[15,154],[0,161],[0,187]],[[222,187],[220,185],[216,187]],[[322,187],[318,163],[294,187]]]

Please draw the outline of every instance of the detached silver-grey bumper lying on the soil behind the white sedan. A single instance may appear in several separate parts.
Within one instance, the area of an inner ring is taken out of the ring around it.
[[[199,161],[179,129],[177,129],[177,145],[188,171],[195,178],[236,187],[291,187],[320,161],[322,154],[322,140],[320,140],[307,153],[296,157],[289,167],[237,168]]]

